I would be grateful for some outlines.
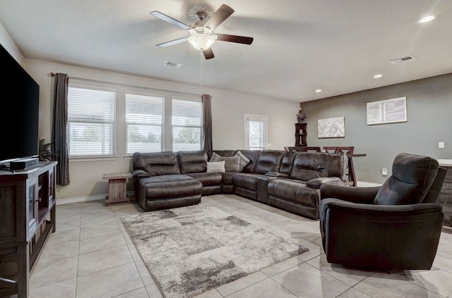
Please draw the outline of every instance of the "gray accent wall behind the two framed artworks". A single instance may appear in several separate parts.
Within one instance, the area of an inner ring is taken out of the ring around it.
[[[367,125],[366,104],[406,97],[408,121]],[[369,89],[301,103],[307,114],[309,146],[355,146],[357,180],[381,183],[381,168],[391,166],[400,152],[452,159],[452,73],[398,85]],[[345,117],[345,137],[319,139],[317,120]],[[438,148],[444,142],[444,149]]]

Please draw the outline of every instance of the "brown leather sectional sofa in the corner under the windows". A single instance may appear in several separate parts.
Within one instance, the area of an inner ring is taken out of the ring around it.
[[[208,163],[213,159],[225,162],[224,172],[208,172]],[[225,193],[318,219],[320,185],[343,185],[343,171],[343,156],[321,152],[215,150],[133,154],[135,196],[145,211],[198,204],[201,196]]]

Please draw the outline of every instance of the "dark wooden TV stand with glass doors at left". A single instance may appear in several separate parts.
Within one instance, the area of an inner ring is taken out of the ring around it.
[[[55,231],[55,166],[0,170],[0,297],[28,297],[30,272]]]

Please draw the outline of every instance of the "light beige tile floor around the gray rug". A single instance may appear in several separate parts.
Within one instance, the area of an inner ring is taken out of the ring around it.
[[[452,297],[449,230],[441,235],[432,270],[390,274],[328,263],[321,248],[319,221],[235,195],[203,197],[202,201],[283,237],[295,238],[309,252],[196,298]],[[57,232],[49,237],[32,272],[30,297],[162,297],[119,219],[141,212],[134,202],[58,205]]]

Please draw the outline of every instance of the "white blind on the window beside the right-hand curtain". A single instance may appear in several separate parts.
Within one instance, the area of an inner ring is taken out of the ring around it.
[[[172,150],[201,150],[201,100],[172,99]]]

